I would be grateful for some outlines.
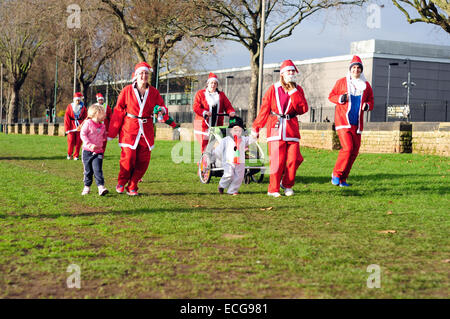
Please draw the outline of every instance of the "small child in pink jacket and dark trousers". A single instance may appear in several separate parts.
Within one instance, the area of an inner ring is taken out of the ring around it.
[[[92,185],[92,176],[98,187],[98,194],[103,196],[108,193],[103,178],[103,145],[106,141],[105,120],[106,112],[101,105],[91,105],[88,117],[83,123],[80,136],[83,141],[83,165],[84,165],[84,189],[81,195],[89,194]]]

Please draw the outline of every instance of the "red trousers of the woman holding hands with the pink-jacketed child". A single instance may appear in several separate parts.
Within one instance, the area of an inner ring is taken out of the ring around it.
[[[150,163],[151,151],[143,137],[139,140],[135,150],[122,147],[120,153],[120,171],[117,183],[126,185],[129,190],[138,190],[138,182],[147,171]]]

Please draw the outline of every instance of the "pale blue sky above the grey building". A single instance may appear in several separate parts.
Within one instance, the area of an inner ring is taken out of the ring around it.
[[[297,26],[291,37],[266,46],[264,63],[349,54],[351,42],[369,39],[450,46],[450,34],[442,28],[426,23],[409,24],[390,1],[372,3],[384,5],[380,9],[380,28],[368,27],[367,6],[353,8],[351,12],[324,10]],[[224,41],[217,50],[218,54],[203,57],[202,64],[207,70],[249,65],[250,55],[242,44]]]

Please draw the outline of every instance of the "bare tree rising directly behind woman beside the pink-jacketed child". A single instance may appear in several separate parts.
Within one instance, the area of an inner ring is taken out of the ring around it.
[[[195,27],[195,15],[199,13],[191,1],[179,0],[101,0],[103,10],[118,23],[122,34],[133,48],[139,61],[146,61],[156,71],[159,64],[166,71],[173,65],[188,65],[194,51],[208,50],[203,41],[188,39]],[[180,25],[183,28],[180,28]],[[176,50],[184,42],[183,50]],[[172,55],[170,53],[173,53]],[[161,62],[163,61],[163,62]],[[160,63],[161,62],[161,63]],[[157,73],[151,75],[156,84]]]

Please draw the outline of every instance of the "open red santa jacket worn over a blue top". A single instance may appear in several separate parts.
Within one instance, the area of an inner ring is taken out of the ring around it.
[[[331,90],[330,95],[328,96],[328,100],[334,104],[336,104],[336,109],[334,111],[334,124],[336,126],[336,130],[340,130],[343,128],[350,128],[350,122],[348,119],[348,113],[350,112],[350,109],[352,107],[351,105],[351,99],[350,96],[348,96],[348,101],[344,104],[339,103],[339,98],[342,94],[349,93],[348,91],[348,81],[350,79],[348,77],[343,77],[339,80],[337,80],[336,84],[333,87],[333,90]],[[361,104],[359,107],[359,121],[358,121],[358,130],[357,133],[361,134],[363,131],[364,123],[364,112],[363,107],[364,104],[369,104],[369,110],[373,110],[373,91],[372,87],[370,86],[369,82],[366,81],[366,89],[363,91],[362,97],[361,97]]]

